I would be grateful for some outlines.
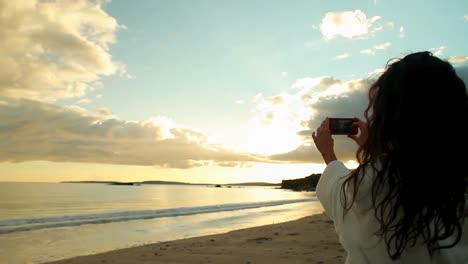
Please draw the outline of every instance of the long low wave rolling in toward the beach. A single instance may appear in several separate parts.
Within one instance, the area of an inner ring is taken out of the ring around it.
[[[158,210],[133,210],[112,213],[64,215],[40,218],[0,220],[0,234],[31,231],[45,228],[103,224],[121,221],[153,219],[161,217],[187,216],[225,211],[236,211],[260,207],[278,206],[292,203],[317,201],[316,197],[307,199],[279,200],[255,203],[234,203],[198,207],[180,207]]]

